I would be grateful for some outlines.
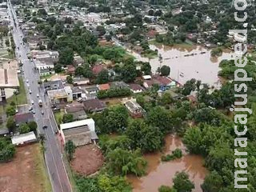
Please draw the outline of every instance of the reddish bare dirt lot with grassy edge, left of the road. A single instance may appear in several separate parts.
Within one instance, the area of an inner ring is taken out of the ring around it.
[[[16,150],[11,162],[0,163],[0,192],[50,191],[39,144]]]

